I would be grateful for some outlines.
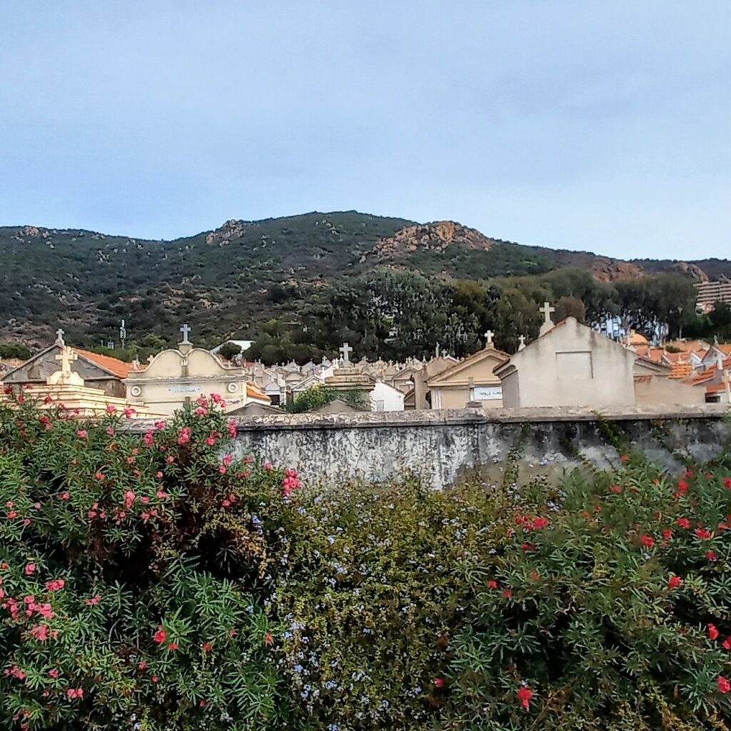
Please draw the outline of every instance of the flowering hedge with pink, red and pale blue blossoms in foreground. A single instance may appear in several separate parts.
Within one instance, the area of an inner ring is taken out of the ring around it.
[[[731,460],[300,490],[201,399],[0,405],[0,727],[731,727]]]

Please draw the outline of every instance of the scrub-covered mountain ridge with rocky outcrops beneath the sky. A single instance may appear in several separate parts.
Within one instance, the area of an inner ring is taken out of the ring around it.
[[[420,224],[358,211],[229,219],[170,240],[0,227],[0,260],[0,342],[31,344],[47,343],[59,325],[98,342],[122,317],[167,338],[182,319],[197,322],[205,337],[246,330],[296,313],[319,287],[379,268],[479,280],[558,268],[589,270],[601,281],[670,271],[700,280],[731,276],[728,260],[628,261],[525,246],[456,221]]]

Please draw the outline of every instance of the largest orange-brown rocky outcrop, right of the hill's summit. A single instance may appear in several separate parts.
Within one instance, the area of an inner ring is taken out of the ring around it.
[[[489,251],[495,243],[495,239],[455,221],[433,221],[406,226],[393,236],[382,238],[374,246],[374,254],[382,262],[406,258],[414,251],[441,252],[449,246]]]

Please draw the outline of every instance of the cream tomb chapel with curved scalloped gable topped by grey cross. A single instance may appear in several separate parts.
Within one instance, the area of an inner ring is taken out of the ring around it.
[[[177,348],[159,352],[146,368],[130,371],[125,379],[130,404],[146,404],[161,414],[173,414],[201,395],[219,393],[227,412],[256,403],[269,406],[271,400],[249,380],[244,368],[224,366],[216,355],[197,348],[189,340],[191,328],[181,327]]]

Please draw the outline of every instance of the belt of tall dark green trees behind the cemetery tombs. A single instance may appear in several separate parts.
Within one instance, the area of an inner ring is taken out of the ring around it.
[[[303,363],[333,357],[343,341],[356,345],[356,357],[430,357],[436,344],[463,357],[484,344],[488,329],[497,347],[515,352],[521,335],[529,340],[537,336],[539,306],[546,300],[556,303],[557,321],[572,315],[602,326],[618,318],[625,329],[648,338],[660,330],[670,337],[681,331],[708,336],[717,325],[695,315],[692,281],[676,274],[609,284],[586,270],[568,268],[487,281],[386,270],[318,289],[297,321],[275,319],[262,325],[246,357]],[[719,329],[719,335],[723,332]]]

